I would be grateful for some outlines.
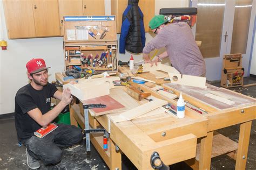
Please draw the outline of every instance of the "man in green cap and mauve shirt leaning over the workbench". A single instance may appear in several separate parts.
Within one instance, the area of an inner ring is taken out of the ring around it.
[[[150,20],[149,27],[157,35],[143,48],[145,63],[157,65],[169,56],[172,66],[180,74],[205,77],[205,61],[187,23],[169,23],[164,15],[158,15]],[[165,47],[166,51],[151,61],[149,53],[161,47]]]

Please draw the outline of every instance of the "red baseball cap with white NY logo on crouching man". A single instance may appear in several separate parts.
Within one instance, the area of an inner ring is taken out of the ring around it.
[[[46,67],[43,59],[32,59],[26,63],[26,69],[28,69],[28,73],[30,74],[38,73],[48,68],[51,67]]]

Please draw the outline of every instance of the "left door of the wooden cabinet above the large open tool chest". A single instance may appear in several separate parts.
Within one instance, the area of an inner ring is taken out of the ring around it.
[[[63,36],[63,17],[64,16],[82,16],[83,1],[82,0],[59,0],[59,24],[60,34]]]

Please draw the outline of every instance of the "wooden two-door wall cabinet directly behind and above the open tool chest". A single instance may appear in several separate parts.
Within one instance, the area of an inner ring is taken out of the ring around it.
[[[104,0],[59,0],[59,19],[63,36],[64,16],[101,16],[105,15]]]

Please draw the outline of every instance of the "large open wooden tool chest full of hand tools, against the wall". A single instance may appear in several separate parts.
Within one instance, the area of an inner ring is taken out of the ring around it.
[[[117,72],[115,16],[65,16],[63,24],[65,70]]]

